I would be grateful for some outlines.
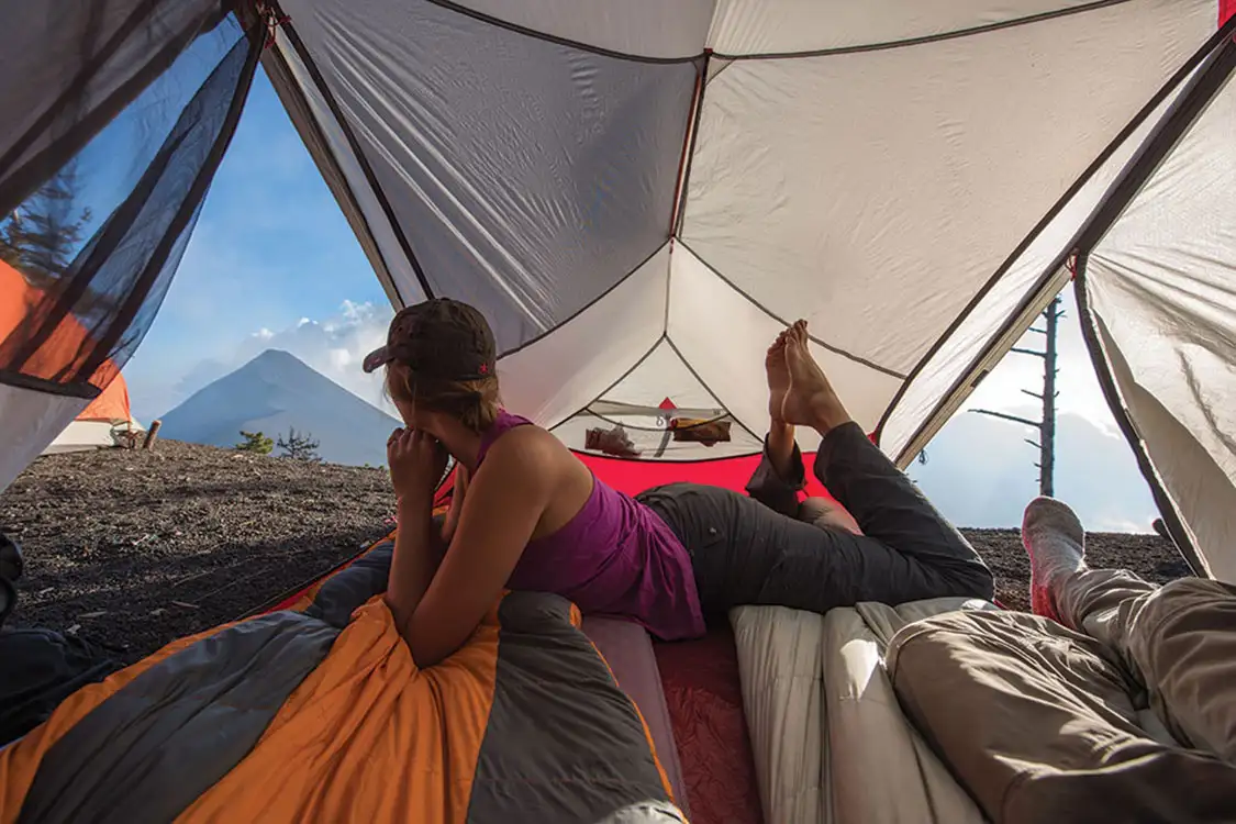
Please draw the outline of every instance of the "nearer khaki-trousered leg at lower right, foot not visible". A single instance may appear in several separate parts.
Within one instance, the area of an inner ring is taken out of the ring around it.
[[[997,824],[1230,822],[1236,766],[1153,740],[1101,642],[1025,613],[955,612],[889,645],[899,702]]]

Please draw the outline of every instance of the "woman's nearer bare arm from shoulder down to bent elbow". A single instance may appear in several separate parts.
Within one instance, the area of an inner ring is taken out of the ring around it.
[[[519,427],[494,444],[471,482],[438,572],[415,603],[404,602],[398,610],[392,605],[397,619],[408,614],[399,634],[417,666],[430,667],[455,652],[506,587],[552,494],[555,453],[545,436]],[[391,572],[393,579],[393,563]],[[414,576],[409,568],[409,578]]]

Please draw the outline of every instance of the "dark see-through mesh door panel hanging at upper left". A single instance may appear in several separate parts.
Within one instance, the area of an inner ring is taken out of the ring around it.
[[[73,95],[59,101],[57,116],[35,124],[62,137],[44,141],[51,146],[82,145],[43,168],[32,193],[0,220],[4,299],[20,301],[19,322],[0,329],[0,382],[93,395],[153,321],[262,47],[258,33],[246,36],[235,17],[218,14],[218,4],[206,5],[215,15],[189,23],[193,37],[167,70],[88,141],[80,130],[96,119],[96,107]],[[145,21],[130,22],[156,41],[148,46],[157,52],[159,38],[172,35],[163,31],[159,4],[147,6],[154,10],[147,9]],[[72,140],[63,137],[69,132]],[[43,162],[52,154],[44,152]],[[12,172],[0,166],[0,182]],[[23,283],[15,283],[14,272]]]

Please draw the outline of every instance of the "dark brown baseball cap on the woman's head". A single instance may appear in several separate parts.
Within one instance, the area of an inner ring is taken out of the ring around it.
[[[393,361],[442,380],[481,380],[496,374],[497,345],[480,311],[459,300],[433,298],[394,316],[386,346],[370,352],[363,368],[373,372]]]

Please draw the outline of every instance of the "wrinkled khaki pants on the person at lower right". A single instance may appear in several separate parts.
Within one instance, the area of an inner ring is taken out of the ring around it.
[[[997,823],[1236,822],[1236,587],[1095,570],[1056,594],[1072,629],[949,613],[892,639],[953,775]]]

